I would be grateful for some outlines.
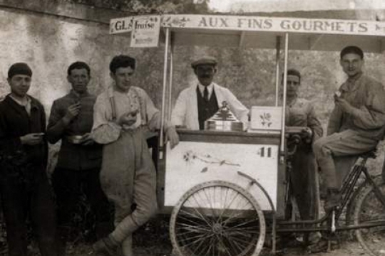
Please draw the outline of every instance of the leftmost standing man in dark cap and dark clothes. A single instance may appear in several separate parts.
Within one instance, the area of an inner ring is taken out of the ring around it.
[[[32,71],[15,63],[8,71],[11,93],[0,102],[0,194],[10,256],[26,256],[27,218],[34,223],[42,256],[55,256],[56,215],[46,175],[46,116],[27,95]]]

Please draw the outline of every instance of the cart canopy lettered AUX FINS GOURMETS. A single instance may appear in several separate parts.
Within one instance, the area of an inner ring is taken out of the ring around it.
[[[149,17],[154,16],[115,18],[111,20],[110,31],[133,31],[138,26],[135,21]],[[170,29],[175,46],[275,49],[277,36],[289,33],[290,50],[339,51],[354,45],[365,52],[382,53],[385,48],[385,22],[379,21],[193,14],[157,17],[160,28]]]

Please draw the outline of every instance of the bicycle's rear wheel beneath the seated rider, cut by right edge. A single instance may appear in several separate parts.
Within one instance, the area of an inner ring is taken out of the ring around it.
[[[378,186],[385,195],[385,183]],[[353,215],[354,225],[364,225],[370,222],[382,221],[382,225],[373,228],[356,230],[356,238],[370,255],[385,255],[385,206],[374,193],[373,186],[364,188],[356,200]]]

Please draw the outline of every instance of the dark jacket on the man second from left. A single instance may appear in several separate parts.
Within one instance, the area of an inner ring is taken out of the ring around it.
[[[79,97],[75,92],[71,91],[68,95],[53,102],[48,121],[47,139],[52,144],[61,139],[56,168],[88,170],[101,167],[101,144],[83,146],[81,144],[72,144],[66,139],[68,136],[91,132],[95,101],[96,96],[94,95],[87,93]],[[76,102],[81,102],[81,112],[68,125],[65,125],[62,119],[67,108]]]

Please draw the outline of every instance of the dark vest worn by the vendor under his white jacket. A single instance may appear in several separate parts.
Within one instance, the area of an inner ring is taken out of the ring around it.
[[[215,90],[212,89],[210,100],[206,102],[200,93],[199,87],[197,87],[197,103],[199,129],[202,130],[205,129],[205,121],[212,117],[219,110]]]

